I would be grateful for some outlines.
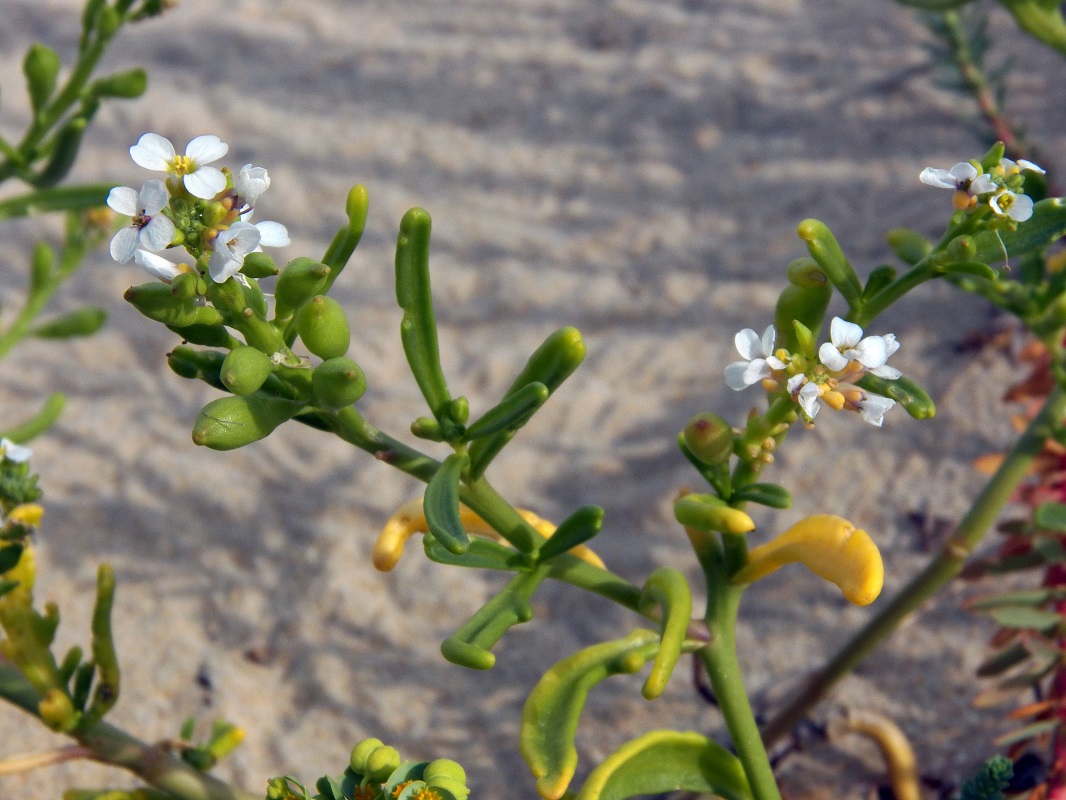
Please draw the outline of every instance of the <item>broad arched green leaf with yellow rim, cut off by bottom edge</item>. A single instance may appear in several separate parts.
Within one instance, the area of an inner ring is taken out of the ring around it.
[[[592,771],[577,800],[625,800],[693,791],[750,800],[740,759],[698,733],[652,731],[623,745]]]

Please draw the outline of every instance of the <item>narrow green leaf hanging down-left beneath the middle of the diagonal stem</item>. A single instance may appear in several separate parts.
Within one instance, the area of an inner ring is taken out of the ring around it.
[[[488,670],[496,663],[491,647],[515,625],[533,619],[530,598],[548,577],[550,567],[515,575],[499,594],[440,645],[446,659],[459,667]]]

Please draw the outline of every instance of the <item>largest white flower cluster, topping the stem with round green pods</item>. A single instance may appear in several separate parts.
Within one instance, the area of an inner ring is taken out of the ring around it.
[[[240,272],[248,253],[287,245],[285,225],[251,222],[256,203],[270,187],[266,170],[245,164],[230,183],[228,171],[209,166],[228,150],[229,145],[219,137],[203,135],[179,156],[168,139],[158,133],[141,137],[130,147],[133,161],[146,170],[165,172],[167,178],[165,182],[147,180],[140,192],[129,187],[111,190],[108,205],[130,218],[130,224],[111,240],[111,257],[119,263],[133,259],[154,277],[169,282],[192,268],[155,251],[181,243],[194,257],[210,253],[208,272],[221,284]],[[189,201],[191,209],[180,218],[171,205],[177,196]],[[179,219],[189,229],[175,225]],[[190,220],[196,223],[195,229]]]

